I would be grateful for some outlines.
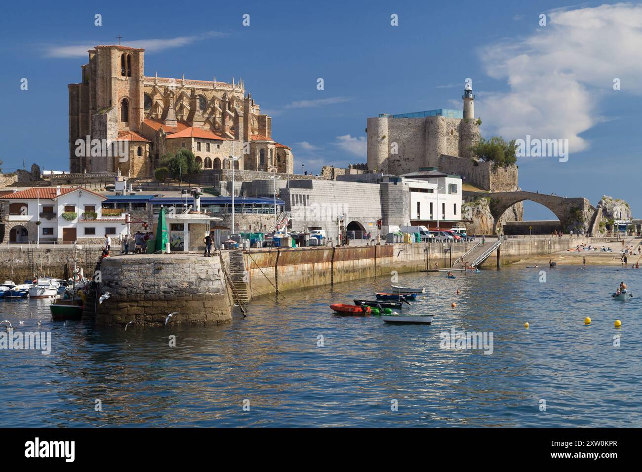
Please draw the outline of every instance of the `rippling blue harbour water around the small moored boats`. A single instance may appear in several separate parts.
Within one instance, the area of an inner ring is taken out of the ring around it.
[[[642,271],[559,267],[539,283],[539,270],[400,275],[428,287],[410,310],[432,326],[329,310],[387,290],[383,277],[253,301],[218,328],[64,325],[48,301],[0,301],[2,319],[53,343],[0,351],[0,426],[642,426],[642,300],[610,298],[625,280],[642,299]],[[494,352],[440,349],[453,327],[492,331]]]

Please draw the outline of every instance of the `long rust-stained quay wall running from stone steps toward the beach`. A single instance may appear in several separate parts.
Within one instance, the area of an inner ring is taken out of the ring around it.
[[[489,240],[489,243],[492,240]],[[500,263],[508,264],[541,254],[568,250],[582,243],[597,244],[601,238],[508,239],[501,245]],[[279,291],[298,290],[365,277],[380,277],[394,272],[417,272],[451,267],[474,243],[389,244],[359,247],[308,247],[263,249],[245,252],[250,297]],[[485,261],[494,267],[497,253]]]

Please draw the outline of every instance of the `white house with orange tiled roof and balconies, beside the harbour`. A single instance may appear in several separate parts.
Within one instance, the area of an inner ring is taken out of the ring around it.
[[[126,234],[123,211],[103,210],[107,198],[85,188],[37,187],[0,199],[3,243],[102,243]]]

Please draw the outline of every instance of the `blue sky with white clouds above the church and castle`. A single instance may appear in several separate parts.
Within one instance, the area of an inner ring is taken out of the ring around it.
[[[569,139],[568,162],[518,161],[521,188],[587,197],[594,205],[602,195],[624,198],[639,216],[638,4],[279,1],[198,8],[162,1],[4,5],[3,170],[21,168],[22,159],[68,170],[67,84],[80,82],[85,46],[114,44],[121,35],[123,44],[147,49],[148,75],[242,77],[273,116],[273,137],[293,148],[297,172],[301,163],[317,173],[324,164],[365,162],[368,117],[460,109],[470,77],[483,135]],[[96,13],[102,26],[94,26]],[[250,26],[241,24],[244,13]],[[399,26],[391,26],[392,13]],[[538,24],[541,13],[546,26]],[[620,78],[618,91],[613,78]],[[526,218],[553,214],[527,204]]]

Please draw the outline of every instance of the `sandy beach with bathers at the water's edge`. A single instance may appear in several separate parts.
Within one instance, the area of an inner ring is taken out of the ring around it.
[[[610,247],[611,252],[600,250],[604,247]],[[557,265],[582,265],[582,260],[586,258],[586,265],[622,265],[621,253],[624,249],[633,251],[629,254],[627,251],[627,267],[631,267],[636,263],[642,265],[642,254],[638,254],[638,248],[642,249],[642,238],[627,237],[622,241],[613,240],[611,242],[597,243],[596,249],[593,250],[565,250],[560,252],[553,252],[552,254],[544,254],[542,256],[534,256],[528,259],[522,259],[514,263],[514,265],[538,265],[539,267],[548,267],[548,261],[556,262]],[[642,267],[641,267],[642,268]]]

